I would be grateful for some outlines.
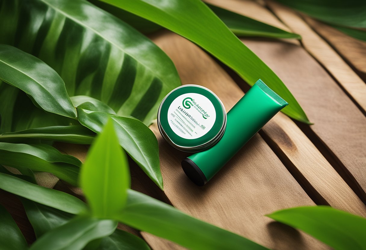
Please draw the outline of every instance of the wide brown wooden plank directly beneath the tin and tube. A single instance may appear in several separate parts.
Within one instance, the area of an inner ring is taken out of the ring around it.
[[[243,91],[206,53],[173,33],[153,38],[175,63],[183,84],[210,88],[227,110]],[[273,223],[264,215],[278,209],[314,205],[277,156],[255,135],[208,184],[194,185],[180,162],[188,153],[172,148],[150,126],[158,138],[164,191],[178,209],[199,219],[243,235],[271,249],[323,249],[325,245],[302,232]],[[145,237],[145,233],[142,233]],[[145,238],[156,249],[174,249],[172,243],[155,236]]]

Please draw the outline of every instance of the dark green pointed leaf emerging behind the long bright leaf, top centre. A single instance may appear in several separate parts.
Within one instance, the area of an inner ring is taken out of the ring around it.
[[[238,37],[270,37],[270,38],[296,38],[299,34],[287,32],[275,26],[259,22],[255,19],[225,10],[212,4],[207,4],[210,9],[228,26]]]

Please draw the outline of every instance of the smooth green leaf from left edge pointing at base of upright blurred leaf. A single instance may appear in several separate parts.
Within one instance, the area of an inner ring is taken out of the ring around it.
[[[64,212],[79,214],[86,211],[85,203],[75,196],[38,186],[8,174],[0,173],[0,189]]]

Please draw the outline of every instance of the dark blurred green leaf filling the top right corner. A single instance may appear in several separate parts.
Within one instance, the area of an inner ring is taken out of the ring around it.
[[[327,23],[366,28],[364,0],[277,0]]]

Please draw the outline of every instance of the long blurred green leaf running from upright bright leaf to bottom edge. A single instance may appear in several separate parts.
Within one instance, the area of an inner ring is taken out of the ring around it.
[[[260,249],[265,247],[237,234],[180,212],[145,194],[128,190],[119,221],[141,231],[172,240],[188,249]]]

